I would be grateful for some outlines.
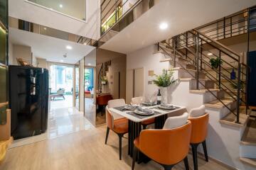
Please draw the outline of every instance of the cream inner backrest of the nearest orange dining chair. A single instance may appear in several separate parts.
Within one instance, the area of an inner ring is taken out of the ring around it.
[[[183,113],[179,116],[173,116],[166,119],[163,129],[173,129],[185,125],[188,120],[188,113]]]

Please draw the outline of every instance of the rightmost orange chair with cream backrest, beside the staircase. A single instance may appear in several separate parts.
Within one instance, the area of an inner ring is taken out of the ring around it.
[[[198,169],[197,148],[198,145],[203,145],[203,152],[205,154],[206,162],[208,162],[208,154],[206,148],[206,137],[208,132],[209,114],[205,113],[204,106],[193,108],[189,113],[188,120],[192,124],[191,132],[191,148],[193,153],[194,170]]]

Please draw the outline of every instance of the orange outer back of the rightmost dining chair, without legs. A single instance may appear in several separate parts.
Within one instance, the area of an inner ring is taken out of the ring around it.
[[[205,113],[197,118],[188,118],[192,124],[191,143],[197,144],[206,140],[208,133],[209,114]]]

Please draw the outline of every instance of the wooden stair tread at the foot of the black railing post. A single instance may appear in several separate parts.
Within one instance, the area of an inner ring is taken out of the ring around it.
[[[239,115],[240,123],[235,123],[236,116],[233,113],[228,113],[228,115],[226,115],[224,118],[220,119],[220,123],[224,123],[227,125],[233,125],[236,127],[242,127],[247,123],[248,120],[249,120],[249,115],[240,114]]]

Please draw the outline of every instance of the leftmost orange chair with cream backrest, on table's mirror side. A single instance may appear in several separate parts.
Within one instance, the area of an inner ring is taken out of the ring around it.
[[[112,101],[114,102],[114,106],[112,107],[122,106],[123,103],[125,105],[124,99],[117,99]],[[109,106],[110,106],[110,103],[112,103],[112,101],[109,101]],[[127,118],[114,119],[114,116],[108,110],[108,106],[106,107],[106,119],[107,119],[107,132],[106,132],[105,144],[107,144],[108,135],[110,133],[110,130],[112,130],[119,137],[119,160],[121,160],[122,159],[122,137],[124,136],[125,133],[128,132],[128,120]]]

